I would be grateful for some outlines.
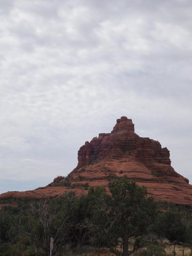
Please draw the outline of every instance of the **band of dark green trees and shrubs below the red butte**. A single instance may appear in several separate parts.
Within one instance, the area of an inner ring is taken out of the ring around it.
[[[85,247],[108,249],[116,256],[165,255],[157,244],[166,237],[174,245],[192,245],[190,207],[155,203],[147,190],[127,180],[91,187],[88,195],[69,192],[41,200],[7,200],[0,211],[0,255],[52,256],[81,252]],[[164,211],[162,211],[162,209]]]

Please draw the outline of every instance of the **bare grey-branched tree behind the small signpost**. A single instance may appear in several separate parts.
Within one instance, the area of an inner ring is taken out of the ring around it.
[[[22,232],[31,239],[36,256],[50,255],[50,238],[53,237],[52,256],[60,256],[71,246],[69,208],[75,194],[62,200],[43,199],[32,202],[29,216],[20,220]]]

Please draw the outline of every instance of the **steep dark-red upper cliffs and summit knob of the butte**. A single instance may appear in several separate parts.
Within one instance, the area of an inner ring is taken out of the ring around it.
[[[78,165],[81,166],[98,162],[106,157],[112,159],[134,159],[145,164],[148,169],[158,176],[179,177],[171,167],[169,150],[161,148],[158,141],[141,138],[134,132],[131,119],[122,116],[111,133],[100,133],[90,143],[85,142],[78,151]]]

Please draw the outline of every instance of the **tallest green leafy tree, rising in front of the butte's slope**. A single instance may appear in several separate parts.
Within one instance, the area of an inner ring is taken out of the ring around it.
[[[146,198],[146,188],[135,182],[116,180],[108,187],[111,195],[102,193],[96,199],[92,236],[116,256],[128,256],[146,242],[156,204],[152,197]]]

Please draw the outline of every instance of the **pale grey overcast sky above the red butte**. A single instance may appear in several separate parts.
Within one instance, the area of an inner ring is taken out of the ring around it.
[[[192,183],[191,0],[0,0],[0,193],[45,186],[116,119]]]

